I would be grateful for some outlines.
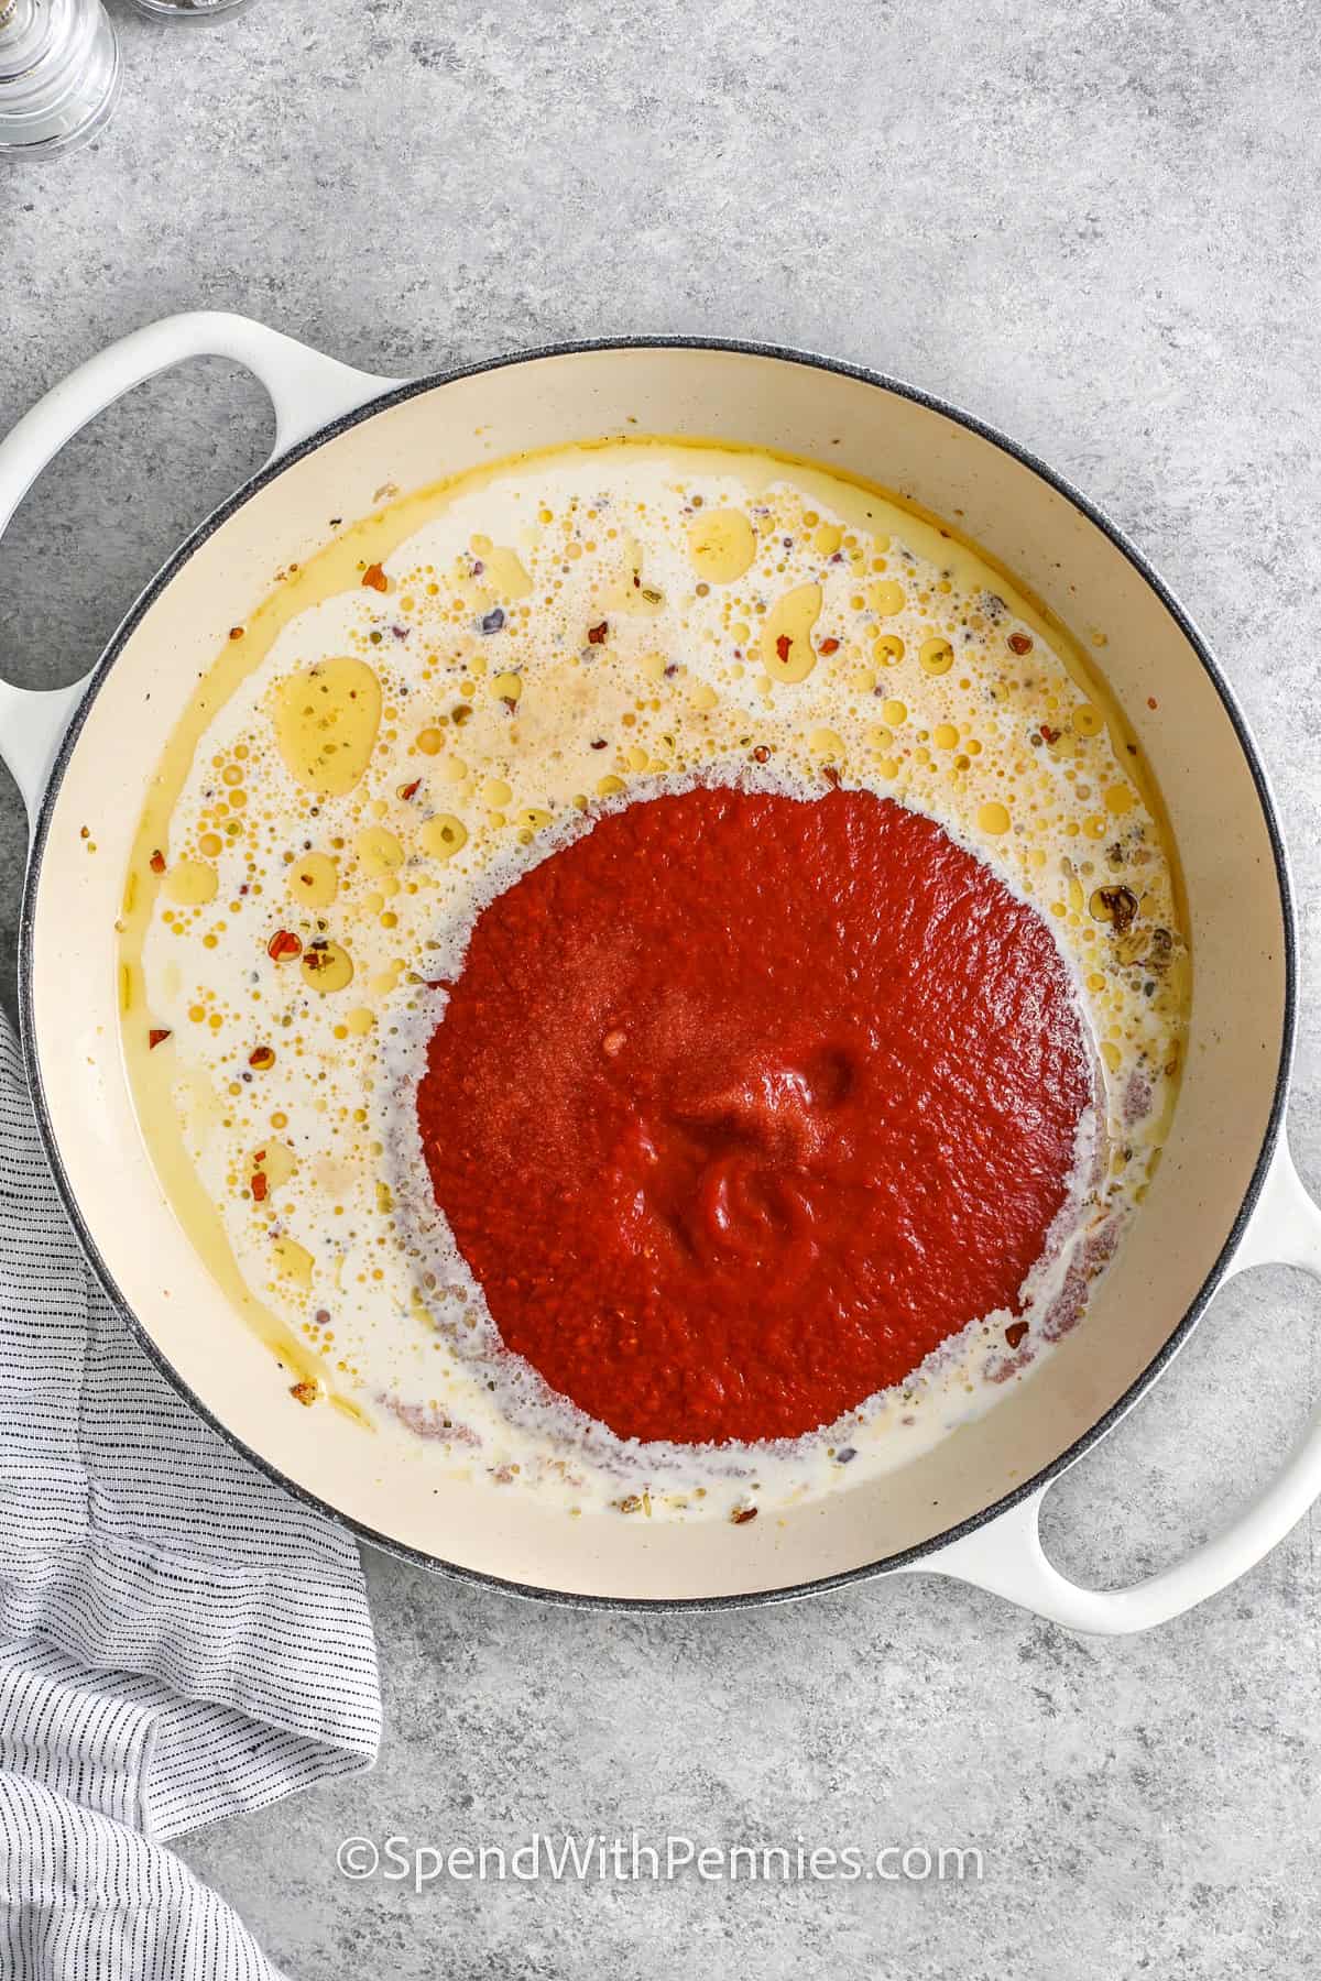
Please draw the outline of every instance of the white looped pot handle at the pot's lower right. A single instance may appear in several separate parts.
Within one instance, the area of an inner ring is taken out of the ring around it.
[[[1321,1208],[1299,1183],[1283,1133],[1228,1274],[1268,1264],[1303,1266],[1321,1278]],[[1184,1561],[1129,1589],[1081,1589],[1050,1565],[1040,1535],[1048,1490],[1050,1486],[1042,1486],[1008,1513],[913,1563],[913,1571],[974,1583],[1069,1630],[1097,1636],[1149,1630],[1246,1575],[1321,1496],[1321,1407],[1313,1410],[1275,1478],[1228,1527]]]

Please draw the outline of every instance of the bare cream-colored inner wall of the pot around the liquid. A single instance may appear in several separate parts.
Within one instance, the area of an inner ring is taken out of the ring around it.
[[[115,1012],[115,915],[143,784],[226,630],[329,517],[523,448],[608,432],[719,436],[814,456],[953,517],[1099,658],[1165,792],[1194,949],[1192,1044],[1172,1143],[1087,1323],[982,1420],[905,1472],[784,1519],[693,1529],[566,1519],[448,1482],[426,1448],[382,1450],[291,1405],[287,1375],[194,1258],[135,1123]],[[1149,697],[1157,707],[1149,707]],[[87,828],[87,838],[83,838]],[[95,852],[89,852],[89,844]],[[865,380],[727,351],[533,359],[426,390],[275,475],[147,610],[63,773],[36,893],[34,1044],[67,1183],[143,1327],[202,1405],[285,1478],[388,1543],[539,1589],[719,1599],[877,1563],[1022,1486],[1161,1351],[1242,1206],[1268,1131],[1285,1006],[1271,844],[1224,705],[1141,573],[998,446]]]

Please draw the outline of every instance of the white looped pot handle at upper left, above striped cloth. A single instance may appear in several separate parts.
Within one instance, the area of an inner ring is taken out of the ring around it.
[[[321,351],[311,351],[250,317],[218,309],[162,317],[160,323],[149,323],[121,337],[79,365],[24,414],[6,440],[0,440],[0,535],[65,440],[135,384],[184,359],[200,357],[234,359],[261,380],[275,408],[271,460],[317,432],[327,420],[353,412],[400,384],[398,378],[353,370],[351,365],[327,359]],[[12,687],[0,681],[0,759],[24,796],[30,820],[36,820],[50,767],[87,679],[89,676],[83,676],[71,687],[51,689]]]

